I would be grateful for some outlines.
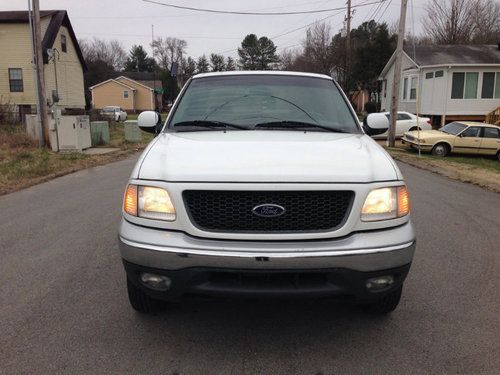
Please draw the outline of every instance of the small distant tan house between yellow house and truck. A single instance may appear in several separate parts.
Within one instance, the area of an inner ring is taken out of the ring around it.
[[[161,85],[161,82],[158,81]],[[161,103],[161,96],[158,97],[153,90],[153,82],[136,81],[131,78],[120,76],[108,79],[89,87],[92,93],[92,107],[101,109],[106,106],[119,106],[127,112],[140,112],[155,110]]]

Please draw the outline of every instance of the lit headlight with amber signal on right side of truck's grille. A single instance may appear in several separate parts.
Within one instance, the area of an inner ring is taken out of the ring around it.
[[[410,212],[406,186],[386,187],[370,191],[361,210],[362,221],[396,219]]]

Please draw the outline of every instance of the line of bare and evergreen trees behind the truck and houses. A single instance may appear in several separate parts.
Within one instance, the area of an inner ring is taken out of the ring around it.
[[[496,44],[500,40],[500,3],[495,0],[430,0],[425,12],[423,33],[405,35],[406,43]],[[175,97],[194,74],[239,69],[322,73],[335,77],[347,92],[377,92],[378,75],[395,49],[396,27],[375,20],[363,22],[350,32],[349,51],[346,37],[342,32],[333,33],[325,22],[315,23],[299,40],[300,47],[278,54],[270,38],[248,34],[237,49],[237,59],[220,53],[187,56],[188,43],[174,37],[156,38],[150,45],[154,57],[141,45],[132,46],[127,53],[117,40],[81,40],[88,66],[84,77],[87,103],[88,87],[123,71],[155,72],[166,92],[164,101]],[[173,63],[176,77],[171,74]]]

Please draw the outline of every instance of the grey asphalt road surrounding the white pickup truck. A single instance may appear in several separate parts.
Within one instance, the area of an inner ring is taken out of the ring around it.
[[[399,309],[128,306],[116,227],[129,159],[0,197],[0,373],[500,373],[500,199],[402,165],[418,253]]]

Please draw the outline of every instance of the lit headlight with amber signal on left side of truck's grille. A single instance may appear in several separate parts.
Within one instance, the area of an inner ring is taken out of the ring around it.
[[[175,207],[165,189],[154,186],[128,185],[123,210],[132,216],[155,220],[175,220]]]

